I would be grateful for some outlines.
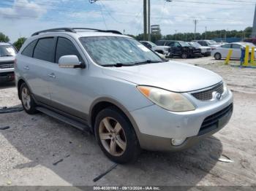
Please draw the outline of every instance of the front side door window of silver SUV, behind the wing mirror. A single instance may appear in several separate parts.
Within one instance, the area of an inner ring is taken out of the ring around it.
[[[59,63],[59,58],[61,58],[61,56],[63,55],[76,55],[81,61],[80,55],[75,45],[69,39],[59,37],[57,42],[57,47],[56,47],[55,62]]]

